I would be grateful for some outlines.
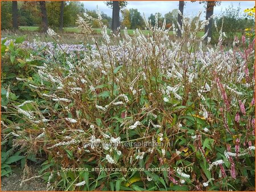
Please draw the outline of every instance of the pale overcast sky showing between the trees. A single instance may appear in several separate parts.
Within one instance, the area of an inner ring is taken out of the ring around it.
[[[112,9],[107,7],[104,1],[83,1],[85,9],[95,10],[98,9],[103,11],[105,14],[112,16]],[[127,1],[127,9],[138,9],[141,14],[146,15],[146,18],[152,13],[160,12],[162,15],[166,14],[169,11],[179,8],[179,1]],[[255,6],[255,1],[222,1],[220,6],[214,7],[214,15],[221,13],[221,10],[233,5],[235,8],[240,4],[241,12],[247,8],[252,8]],[[200,10],[204,10],[204,5],[199,2],[187,1],[184,6],[184,14],[195,16]],[[121,16],[121,15],[120,15]],[[205,14],[202,14],[202,19]]]

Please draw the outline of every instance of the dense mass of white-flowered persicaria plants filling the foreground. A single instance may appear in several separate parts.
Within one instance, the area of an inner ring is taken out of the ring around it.
[[[149,35],[109,36],[85,14],[80,29],[95,40],[96,20],[102,41],[79,51],[3,40],[5,171],[16,148],[21,185],[43,157],[50,190],[254,190],[254,39],[225,48],[220,28],[211,47],[198,18],[179,39],[157,16]]]

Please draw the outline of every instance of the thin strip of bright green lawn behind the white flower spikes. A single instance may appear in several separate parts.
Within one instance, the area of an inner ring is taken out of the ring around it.
[[[21,31],[30,31],[30,32],[36,32],[39,30],[39,27],[30,27],[30,26],[19,26],[19,30]],[[95,32],[95,34],[100,34],[101,33],[101,29],[100,28],[93,28],[93,31]],[[129,35],[133,35],[133,31],[134,30],[127,30]],[[143,33],[145,35],[149,34],[148,30],[142,30]],[[64,32],[67,33],[79,33],[79,29],[76,27],[64,27]],[[121,31],[121,33],[123,33],[123,31]],[[110,34],[110,29],[108,29],[108,34]],[[172,35],[173,32],[170,31],[169,35]],[[198,32],[197,37],[202,37],[204,35],[203,31]]]

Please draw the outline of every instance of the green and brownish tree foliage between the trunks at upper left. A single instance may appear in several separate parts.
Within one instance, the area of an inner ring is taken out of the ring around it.
[[[47,1],[47,19],[50,27],[60,27],[61,2]],[[76,26],[78,14],[85,12],[84,4],[77,1],[64,1],[63,27]],[[18,24],[19,26],[40,26],[42,13],[38,1],[18,2]],[[12,28],[12,2],[1,2],[1,29]]]

